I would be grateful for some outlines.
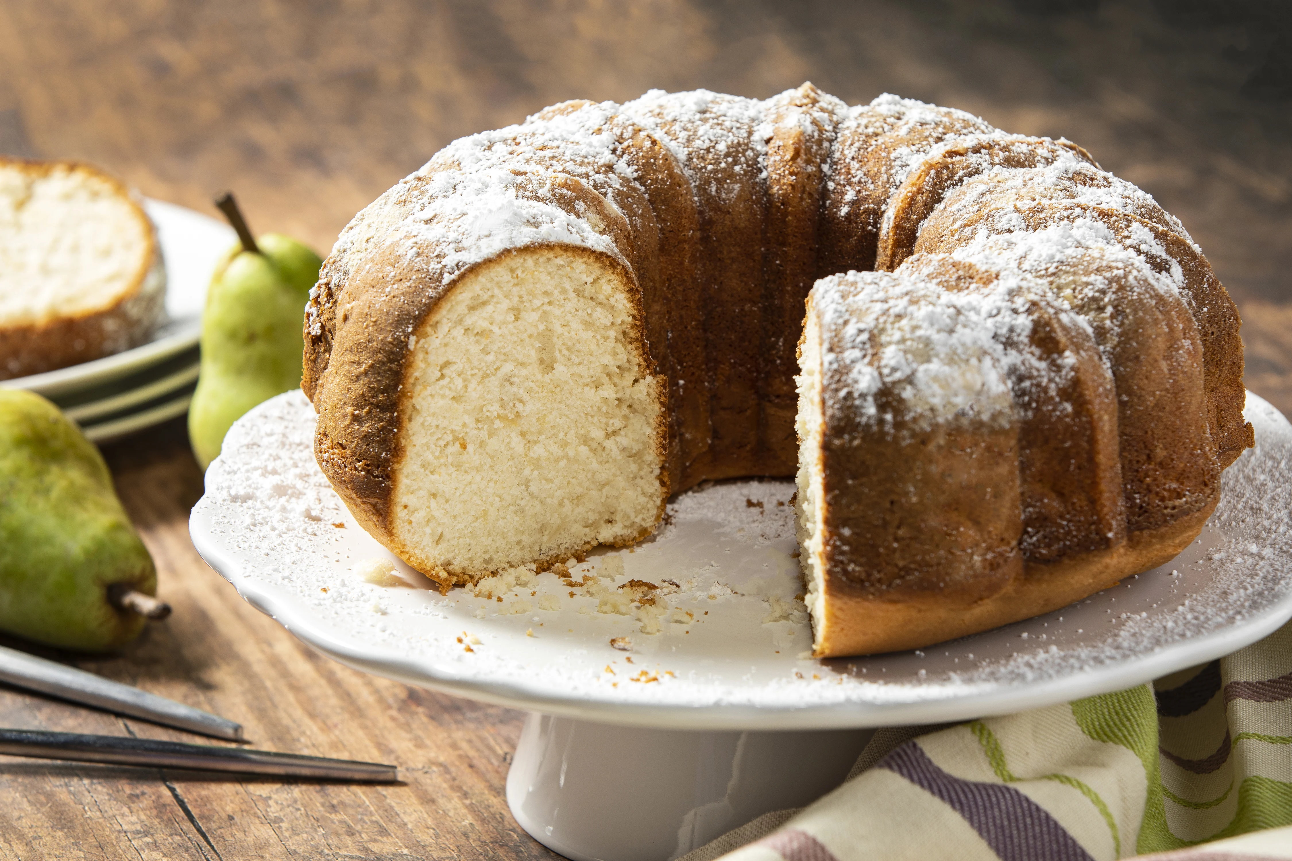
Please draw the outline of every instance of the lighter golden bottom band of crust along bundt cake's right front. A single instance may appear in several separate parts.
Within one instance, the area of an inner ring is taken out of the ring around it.
[[[1040,616],[1118,581],[1169,562],[1202,532],[1216,501],[1169,525],[1134,533],[1123,545],[1053,563],[1032,563],[992,595],[965,600],[959,591],[871,595],[826,580],[826,617],[815,657],[876,654],[919,648]]]

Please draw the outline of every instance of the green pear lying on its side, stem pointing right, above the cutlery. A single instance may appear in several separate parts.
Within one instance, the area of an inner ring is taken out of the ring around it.
[[[98,449],[44,398],[0,390],[0,630],[115,649],[146,620],[114,607],[110,590],[156,585]]]

